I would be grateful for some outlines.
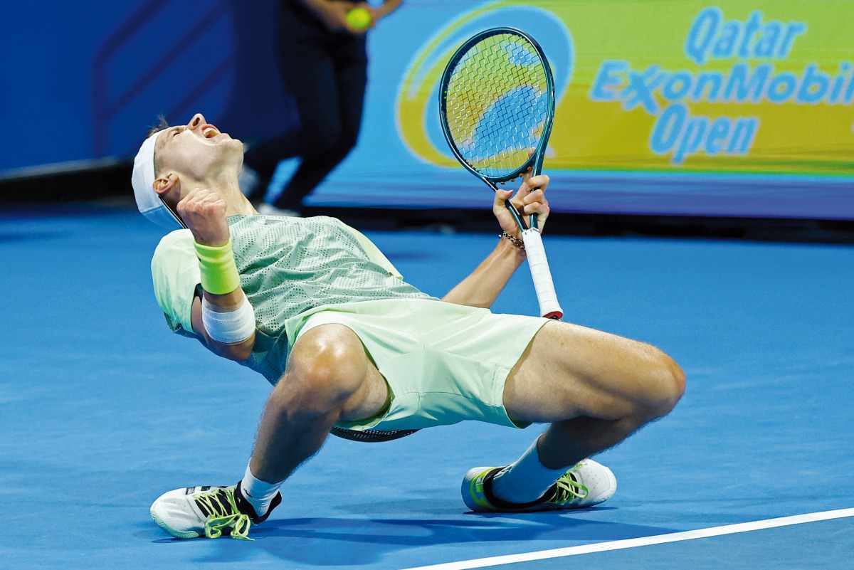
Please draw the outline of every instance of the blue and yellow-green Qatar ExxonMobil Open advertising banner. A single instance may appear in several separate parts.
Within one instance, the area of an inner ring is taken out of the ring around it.
[[[553,208],[854,218],[854,3],[456,6],[407,3],[377,26],[360,148],[313,203],[488,205],[447,149],[437,88],[466,38],[515,26],[553,68]]]

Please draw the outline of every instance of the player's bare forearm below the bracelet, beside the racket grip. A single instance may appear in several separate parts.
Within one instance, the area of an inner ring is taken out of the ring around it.
[[[498,299],[498,295],[524,260],[524,251],[502,239],[477,269],[451,289],[442,300],[457,305],[488,308]]]

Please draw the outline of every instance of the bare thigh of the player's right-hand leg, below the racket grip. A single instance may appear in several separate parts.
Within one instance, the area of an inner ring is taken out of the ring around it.
[[[654,396],[663,356],[635,340],[548,323],[507,377],[504,404],[522,422],[617,420]]]

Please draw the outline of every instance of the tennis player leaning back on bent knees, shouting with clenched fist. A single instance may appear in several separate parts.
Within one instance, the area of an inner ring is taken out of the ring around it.
[[[496,192],[502,237],[440,300],[335,218],[255,212],[237,184],[242,162],[243,144],[201,114],[155,128],[134,162],[140,212],[175,229],[151,263],[169,327],[273,385],[243,479],[163,494],[158,525],[177,538],[248,538],[335,426],[547,423],[518,461],[465,474],[467,507],[578,509],[613,495],[611,470],[589,457],[669,413],[685,377],[652,346],[488,310],[525,259],[505,202],[545,223],[547,176]]]

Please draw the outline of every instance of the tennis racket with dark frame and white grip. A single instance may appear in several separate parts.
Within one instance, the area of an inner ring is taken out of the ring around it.
[[[467,40],[442,74],[439,107],[453,155],[491,189],[529,168],[540,174],[554,119],[554,81],[546,55],[527,33],[496,27]],[[525,225],[516,207],[506,205],[522,230],[540,314],[559,319],[564,311],[536,214]]]

